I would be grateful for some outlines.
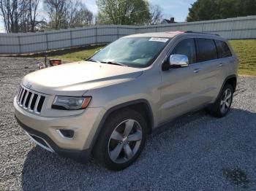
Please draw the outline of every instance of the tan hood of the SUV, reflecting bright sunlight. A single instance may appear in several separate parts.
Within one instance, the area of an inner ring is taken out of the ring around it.
[[[143,69],[80,61],[34,71],[22,83],[49,95],[83,95],[86,90],[129,81],[142,73]]]

